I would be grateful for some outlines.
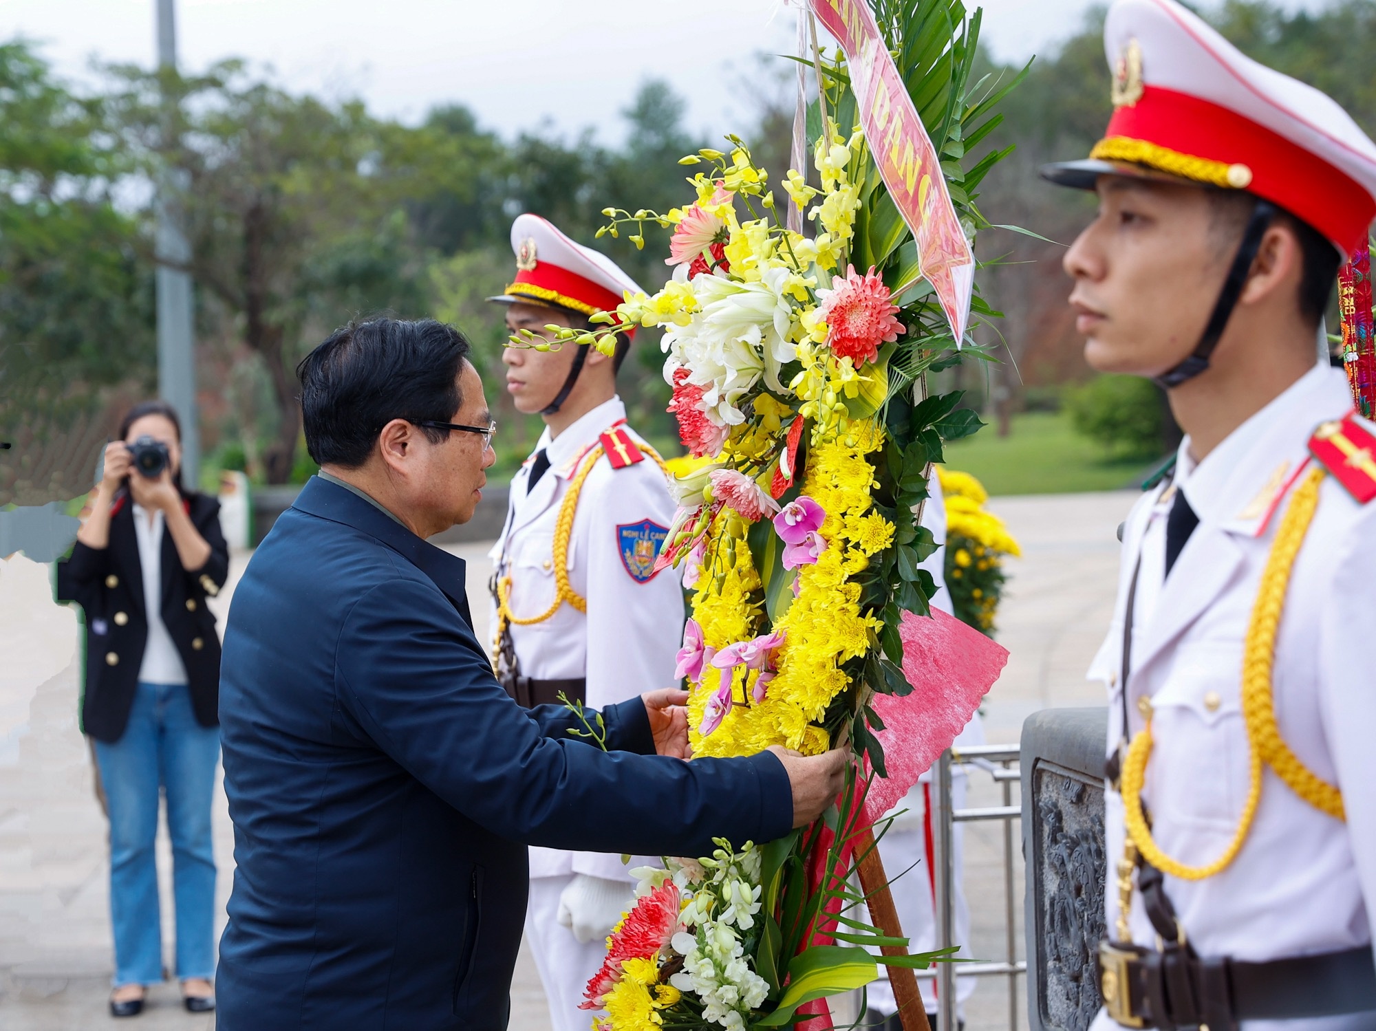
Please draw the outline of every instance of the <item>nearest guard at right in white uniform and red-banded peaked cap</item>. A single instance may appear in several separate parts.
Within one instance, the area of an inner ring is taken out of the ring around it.
[[[1376,426],[1315,334],[1376,146],[1172,0],[1119,0],[1105,49],[1108,132],[1043,175],[1098,192],[1065,257],[1086,357],[1154,377],[1186,436],[1127,518],[1090,671],[1093,1027],[1372,1028]]]

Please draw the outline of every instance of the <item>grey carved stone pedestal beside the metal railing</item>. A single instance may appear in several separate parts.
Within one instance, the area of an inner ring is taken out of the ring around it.
[[[1084,1031],[1099,1009],[1104,742],[1108,709],[1043,709],[1022,724],[1028,1023]]]

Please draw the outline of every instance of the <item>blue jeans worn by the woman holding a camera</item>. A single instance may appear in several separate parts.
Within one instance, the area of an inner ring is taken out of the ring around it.
[[[162,980],[162,920],[153,843],[166,792],[176,900],[176,976],[215,976],[215,850],[211,796],[219,727],[202,727],[184,683],[139,683],[124,737],[95,742],[110,808],[114,984]]]

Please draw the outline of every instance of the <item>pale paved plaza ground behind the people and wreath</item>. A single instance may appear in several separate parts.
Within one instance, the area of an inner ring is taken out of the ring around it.
[[[999,619],[999,639],[1011,658],[985,707],[991,741],[1017,741],[1022,720],[1039,708],[1102,701],[1083,678],[1108,625],[1117,570],[1115,528],[1130,503],[1128,494],[992,503],[1022,543],[1024,557],[1010,564]],[[453,550],[472,562],[473,612],[484,620],[486,603],[476,595],[487,579],[486,547]],[[245,559],[235,555],[231,577]],[[111,969],[105,822],[76,726],[76,620],[47,601],[47,577],[45,566],[23,557],[0,561],[0,1031],[70,1031],[111,1023],[105,1010]],[[222,594],[215,605],[222,616],[228,595]],[[996,801],[992,782],[976,777],[970,804]],[[223,793],[216,806],[223,914],[233,866]],[[967,891],[982,902],[976,906],[971,946],[980,958],[1002,958],[1002,832],[992,823],[971,825],[966,840]],[[166,866],[165,840],[160,858]],[[1021,869],[1015,889],[1021,900]],[[171,939],[166,889],[164,898]],[[1024,1006],[1020,990],[1020,1026]],[[1006,983],[982,984],[966,1016],[971,1031],[1007,1027]],[[133,1026],[190,1031],[213,1027],[213,1020],[183,1012],[169,984],[153,993]],[[512,1028],[548,1028],[539,982],[524,954],[512,988]]]

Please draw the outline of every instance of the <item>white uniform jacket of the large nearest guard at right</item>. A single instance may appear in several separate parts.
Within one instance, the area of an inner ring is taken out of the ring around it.
[[[1121,734],[1120,691],[1127,690],[1131,734],[1143,726],[1139,698],[1152,700],[1154,748],[1143,800],[1156,843],[1178,862],[1212,862],[1238,825],[1249,781],[1241,669],[1252,603],[1293,483],[1303,478],[1295,473],[1309,456],[1310,436],[1351,407],[1343,373],[1315,367],[1197,466],[1186,437],[1174,483],[1143,495],[1128,516],[1113,625],[1090,678],[1109,689],[1108,755]],[[1200,522],[1163,583],[1165,518],[1175,489],[1185,492]],[[1124,612],[1138,561],[1131,674],[1123,685]],[[1266,961],[1370,940],[1373,646],[1376,503],[1357,505],[1328,476],[1291,575],[1273,690],[1281,735],[1310,770],[1340,788],[1347,821],[1320,812],[1266,767],[1255,822],[1232,866],[1201,881],[1165,877],[1165,892],[1200,955]],[[1106,832],[1106,920],[1116,936],[1123,803],[1113,790]],[[1135,889],[1130,928],[1135,943],[1154,947]],[[1101,1013],[1097,1027],[1113,1027],[1106,1021]]]

